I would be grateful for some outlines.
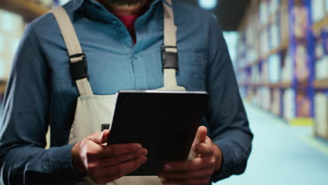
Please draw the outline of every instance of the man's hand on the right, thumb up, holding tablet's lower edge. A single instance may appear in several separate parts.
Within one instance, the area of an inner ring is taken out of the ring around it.
[[[207,137],[207,128],[198,128],[192,149],[196,158],[164,165],[163,172],[158,174],[164,184],[208,184],[212,174],[221,169],[221,150]]]

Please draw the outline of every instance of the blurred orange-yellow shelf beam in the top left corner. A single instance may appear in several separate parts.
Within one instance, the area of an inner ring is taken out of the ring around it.
[[[49,11],[49,8],[29,0],[1,0],[0,8],[18,13],[27,21],[34,20]]]

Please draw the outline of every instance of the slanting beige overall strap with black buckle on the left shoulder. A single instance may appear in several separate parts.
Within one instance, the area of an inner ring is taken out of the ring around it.
[[[51,11],[57,20],[57,23],[62,32],[62,38],[66,44],[67,51],[69,53],[69,60],[71,62],[71,77],[76,81],[78,93],[80,95],[93,95],[93,90],[90,87],[88,81],[88,65],[86,62],[86,56],[82,52],[81,44],[76,36],[75,29],[69,19],[69,15],[62,8],[58,6]]]

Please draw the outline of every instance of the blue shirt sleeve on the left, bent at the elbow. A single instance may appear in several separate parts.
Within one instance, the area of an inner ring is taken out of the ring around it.
[[[72,144],[45,149],[51,109],[51,71],[32,25],[13,61],[0,125],[3,184],[76,184]]]

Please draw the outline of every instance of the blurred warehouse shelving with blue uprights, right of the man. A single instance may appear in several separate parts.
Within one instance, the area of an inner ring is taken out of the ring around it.
[[[311,5],[318,2],[253,0],[240,25],[235,70],[246,100],[290,124],[315,123],[314,133],[326,137],[328,9],[312,18]]]

